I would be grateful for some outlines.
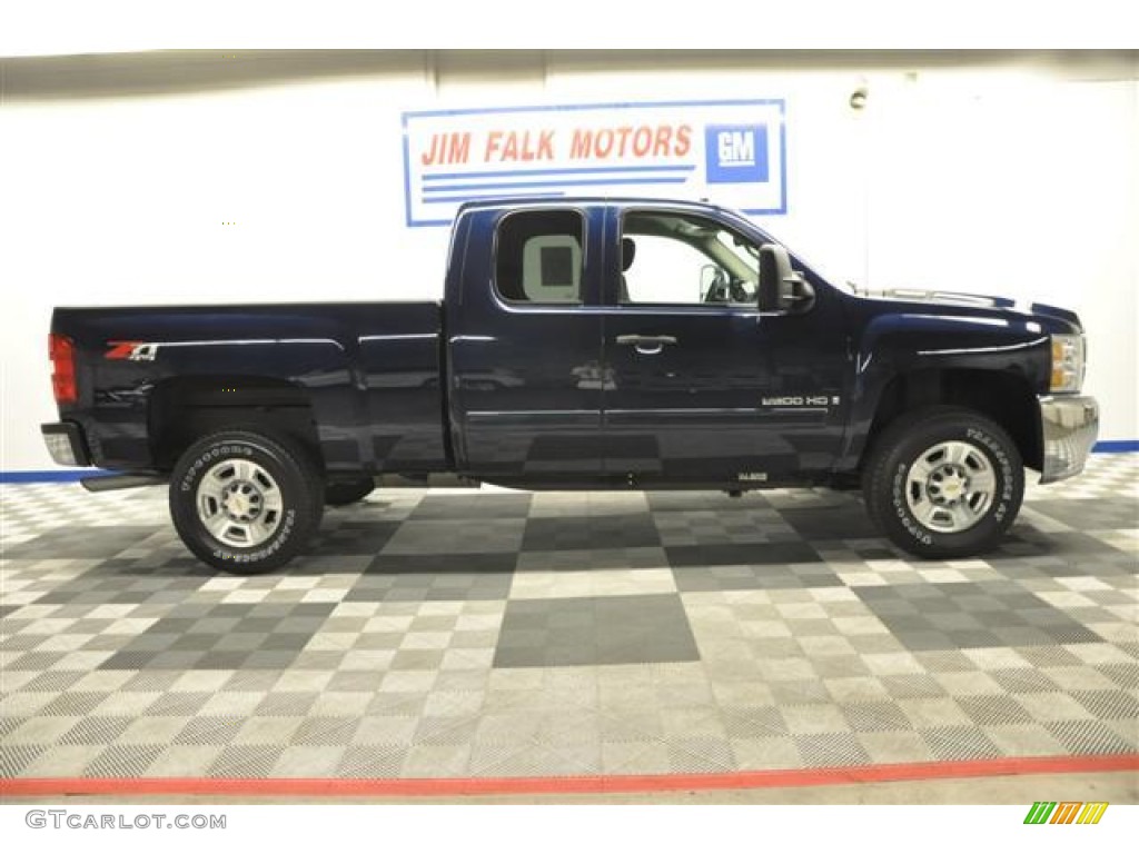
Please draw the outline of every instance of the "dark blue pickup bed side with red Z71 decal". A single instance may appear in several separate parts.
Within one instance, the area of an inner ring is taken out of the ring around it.
[[[79,360],[68,419],[91,459],[163,470],[187,438],[179,420],[232,422],[253,409],[292,413],[328,473],[443,471],[440,303],[333,303],[151,309],[57,309]]]

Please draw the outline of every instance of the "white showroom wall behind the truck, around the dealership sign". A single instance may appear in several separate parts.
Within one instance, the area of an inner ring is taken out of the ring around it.
[[[787,100],[788,214],[763,224],[823,270],[1077,310],[1101,437],[1139,438],[1133,56],[200,56],[0,60],[0,470],[51,468],[52,305],[440,296],[445,230],[403,224],[402,112],[685,98]]]

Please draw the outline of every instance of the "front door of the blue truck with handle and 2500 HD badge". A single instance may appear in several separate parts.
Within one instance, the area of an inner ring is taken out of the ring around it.
[[[847,348],[829,289],[761,312],[775,282],[759,281],[754,233],[666,210],[614,210],[607,228],[607,473],[754,485],[829,469]]]

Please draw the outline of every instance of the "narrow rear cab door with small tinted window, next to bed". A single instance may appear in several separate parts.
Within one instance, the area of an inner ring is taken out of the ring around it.
[[[599,208],[466,214],[446,299],[460,470],[530,483],[600,474],[603,227]]]

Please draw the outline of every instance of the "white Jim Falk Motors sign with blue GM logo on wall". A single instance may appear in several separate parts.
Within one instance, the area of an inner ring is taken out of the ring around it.
[[[784,101],[670,101],[403,114],[409,225],[482,198],[707,198],[787,212]]]

